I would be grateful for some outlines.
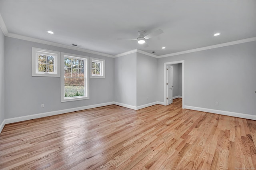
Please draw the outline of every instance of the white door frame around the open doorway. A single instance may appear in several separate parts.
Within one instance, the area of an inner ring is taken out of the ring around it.
[[[166,62],[164,63],[164,106],[166,106],[167,104],[167,85],[166,85],[166,81],[167,81],[167,74],[166,74],[166,68],[167,65],[170,64],[182,64],[182,109],[185,109],[185,60],[180,60],[180,61],[171,61],[171,62]]]

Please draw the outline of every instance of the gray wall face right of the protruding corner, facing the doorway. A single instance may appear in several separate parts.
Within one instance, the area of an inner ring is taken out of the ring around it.
[[[137,106],[156,101],[157,59],[137,53]]]

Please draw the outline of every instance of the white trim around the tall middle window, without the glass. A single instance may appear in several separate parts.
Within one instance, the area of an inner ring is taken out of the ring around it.
[[[77,101],[77,100],[84,100],[84,99],[90,99],[90,79],[89,79],[89,71],[88,71],[88,61],[89,61],[89,57],[83,56],[83,55],[75,55],[75,54],[70,54],[70,53],[60,53],[61,57],[60,57],[60,89],[61,89],[61,102],[66,102],[66,101]],[[73,57],[73,58],[82,58],[85,60],[84,63],[84,67],[86,67],[84,69],[84,79],[85,79],[85,85],[87,86],[86,90],[86,94],[87,96],[75,96],[75,97],[69,97],[68,99],[65,99],[65,95],[64,95],[64,56],[68,56],[68,57]]]

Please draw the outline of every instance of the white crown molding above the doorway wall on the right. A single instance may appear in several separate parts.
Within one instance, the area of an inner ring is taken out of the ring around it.
[[[246,42],[253,42],[253,41],[256,41],[256,37],[246,38],[246,39],[237,40],[237,41],[233,41],[233,42],[220,43],[220,44],[216,44],[216,45],[210,45],[210,46],[190,49],[190,50],[186,50],[186,51],[180,51],[180,52],[177,52],[177,53],[170,53],[170,54],[165,54],[165,55],[159,55],[157,58],[170,57],[170,56],[186,54],[186,53],[193,53],[193,52],[196,52],[196,51],[203,51],[203,50],[206,50],[206,49],[225,47],[225,46],[229,46],[229,45],[235,45],[235,44],[239,44],[239,43],[246,43]]]

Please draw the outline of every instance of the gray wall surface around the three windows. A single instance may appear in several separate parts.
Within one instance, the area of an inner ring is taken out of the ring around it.
[[[90,99],[61,103],[60,77],[31,76],[32,47],[105,59],[106,78],[90,79]],[[6,37],[4,63],[5,119],[114,100],[114,58]]]

